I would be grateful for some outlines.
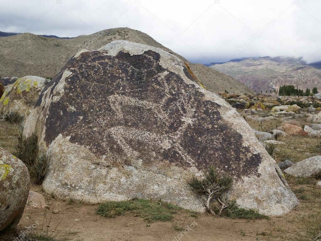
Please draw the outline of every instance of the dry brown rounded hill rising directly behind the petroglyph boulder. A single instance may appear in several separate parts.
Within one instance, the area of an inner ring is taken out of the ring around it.
[[[3,77],[26,75],[53,77],[78,49],[99,49],[114,40],[128,40],[167,49],[149,35],[129,28],[109,29],[72,39],[44,38],[22,33],[0,39],[0,75]],[[174,54],[190,65],[192,71],[210,91],[251,92],[230,76],[204,65],[192,64],[182,56]]]

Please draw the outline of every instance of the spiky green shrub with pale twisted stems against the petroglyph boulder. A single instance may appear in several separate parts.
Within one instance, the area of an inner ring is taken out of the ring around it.
[[[204,178],[199,180],[195,176],[189,180],[188,184],[191,186],[192,190],[199,193],[205,193],[207,195],[207,199],[204,203],[204,206],[207,210],[215,215],[214,210],[211,208],[212,200],[217,200],[221,208],[219,213],[222,212],[227,207],[223,201],[221,201],[221,194],[226,192],[232,186],[233,179],[226,175],[220,174],[215,170],[214,166],[211,166],[207,172],[204,173]]]

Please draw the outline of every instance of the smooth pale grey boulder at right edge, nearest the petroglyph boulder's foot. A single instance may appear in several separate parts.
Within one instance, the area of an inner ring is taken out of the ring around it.
[[[310,177],[321,170],[321,156],[313,156],[288,167],[285,173],[298,177]]]

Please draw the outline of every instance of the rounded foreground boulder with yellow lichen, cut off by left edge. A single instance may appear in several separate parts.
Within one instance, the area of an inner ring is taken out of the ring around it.
[[[29,183],[27,167],[0,147],[0,233],[18,224],[28,198]]]

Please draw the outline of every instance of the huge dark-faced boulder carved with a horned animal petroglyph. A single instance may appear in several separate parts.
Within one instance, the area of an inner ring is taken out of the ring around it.
[[[234,178],[227,198],[280,215],[298,201],[254,131],[187,64],[114,41],[82,50],[42,91],[26,121],[51,156],[43,187],[86,202],[161,199],[203,211],[187,181],[211,165]]]

